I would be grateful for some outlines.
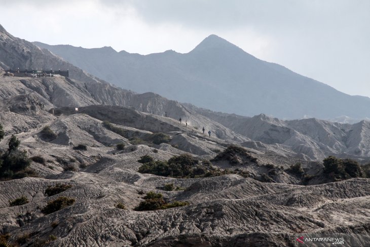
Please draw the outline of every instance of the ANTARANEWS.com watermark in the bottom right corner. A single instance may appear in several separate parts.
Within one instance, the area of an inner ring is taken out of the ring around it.
[[[295,237],[299,246],[370,246],[370,235],[366,234],[313,234],[307,233]]]

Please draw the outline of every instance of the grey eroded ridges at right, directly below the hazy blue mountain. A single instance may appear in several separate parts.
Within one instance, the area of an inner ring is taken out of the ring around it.
[[[368,161],[369,121],[355,124],[333,123],[315,118],[280,120],[264,114],[243,117],[212,112],[184,104],[188,109],[210,118],[251,139],[248,148],[289,150],[301,159],[322,160],[329,155],[356,157]],[[282,153],[282,152],[281,152]]]

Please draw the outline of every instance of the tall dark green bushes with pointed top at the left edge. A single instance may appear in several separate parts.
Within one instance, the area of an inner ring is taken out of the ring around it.
[[[31,160],[26,151],[18,150],[19,144],[17,137],[12,135],[8,143],[8,152],[0,156],[0,179],[35,177],[36,174],[27,168]]]

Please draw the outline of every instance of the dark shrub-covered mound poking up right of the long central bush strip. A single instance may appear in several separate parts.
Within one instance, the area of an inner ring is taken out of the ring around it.
[[[214,157],[213,160],[214,161],[227,160],[230,162],[230,164],[233,165],[243,164],[244,160],[257,163],[256,158],[252,157],[244,148],[236,145],[230,145],[223,152],[217,154],[217,156]]]

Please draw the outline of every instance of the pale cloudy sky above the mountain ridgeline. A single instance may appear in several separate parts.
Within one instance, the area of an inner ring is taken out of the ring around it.
[[[11,34],[149,54],[217,34],[348,94],[370,96],[370,0],[0,0]]]

